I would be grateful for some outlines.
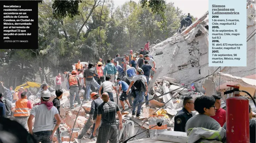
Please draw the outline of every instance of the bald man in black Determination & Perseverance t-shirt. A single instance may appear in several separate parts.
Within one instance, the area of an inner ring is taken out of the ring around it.
[[[118,114],[119,130],[123,128],[122,114],[119,106],[112,101],[108,101],[109,97],[106,92],[102,94],[103,103],[98,106],[98,113],[93,136],[96,134],[96,130],[99,127],[101,121],[101,127],[99,128],[99,134],[96,143],[117,143],[118,142],[118,128],[116,127],[115,114]]]

